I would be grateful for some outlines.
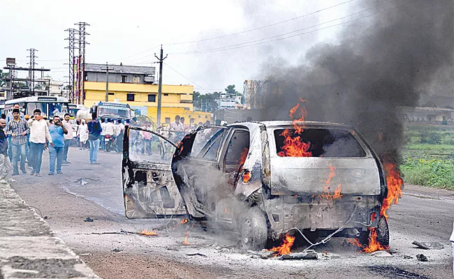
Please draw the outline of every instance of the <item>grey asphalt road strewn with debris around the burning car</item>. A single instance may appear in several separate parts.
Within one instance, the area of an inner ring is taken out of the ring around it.
[[[358,252],[345,239],[333,239],[315,248],[328,257],[279,261],[240,249],[233,234],[205,232],[180,219],[126,220],[117,153],[101,152],[101,165],[90,165],[88,151],[71,148],[72,164],[55,176],[45,175],[47,158],[45,151],[43,177],[15,176],[12,186],[103,278],[453,278],[448,239],[454,193],[446,190],[404,189],[399,204],[388,211],[393,257]],[[85,222],[87,217],[93,222]],[[120,233],[142,229],[156,229],[157,236]],[[182,244],[187,231],[189,246]],[[415,240],[437,241],[444,249],[420,250],[411,244]],[[421,253],[428,262],[416,259]]]

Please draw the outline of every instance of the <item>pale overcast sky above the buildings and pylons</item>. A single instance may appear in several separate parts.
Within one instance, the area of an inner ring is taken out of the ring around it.
[[[66,82],[68,50],[64,47],[68,41],[64,38],[68,34],[64,30],[77,28],[76,22],[87,22],[90,45],[86,47],[86,63],[151,66],[156,61],[154,53],[159,54],[163,44],[164,54],[168,54],[163,83],[193,84],[196,91],[206,93],[224,90],[228,84],[235,84],[242,92],[244,80],[263,78],[263,67],[270,61],[283,65],[304,61],[309,47],[335,42],[344,27],[330,26],[354,17],[329,21],[356,13],[360,7],[358,0],[3,0],[1,10],[3,65],[6,57],[15,57],[17,66],[27,67],[27,49],[34,47],[38,67],[51,68],[54,80]],[[314,14],[307,15],[310,13]],[[291,20],[295,17],[299,18]],[[275,25],[266,27],[270,24]],[[329,28],[317,30],[325,27]],[[293,32],[296,30],[300,31]],[[228,36],[233,33],[239,34]],[[283,33],[305,34],[270,43],[272,38],[263,40],[273,36],[281,39]],[[193,41],[198,42],[185,43]],[[241,45],[247,42],[256,45]],[[230,45],[236,48],[219,50]],[[197,53],[188,53],[194,51]],[[153,65],[157,72],[157,64]]]

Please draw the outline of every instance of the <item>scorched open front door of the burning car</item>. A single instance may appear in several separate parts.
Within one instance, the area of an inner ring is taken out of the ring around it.
[[[126,126],[122,160],[126,218],[186,214],[170,168],[175,148],[173,142],[159,133]]]

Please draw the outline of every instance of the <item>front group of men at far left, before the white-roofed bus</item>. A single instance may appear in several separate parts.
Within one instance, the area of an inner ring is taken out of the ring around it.
[[[0,119],[0,183],[6,183],[10,174],[41,176],[43,151],[49,149],[49,175],[62,174],[61,165],[69,164],[68,146],[72,135],[69,114],[64,119],[53,116],[47,121],[41,116],[41,110],[34,110],[33,115],[24,115],[20,106],[14,105],[13,111],[2,115]],[[56,164],[57,162],[57,164]]]

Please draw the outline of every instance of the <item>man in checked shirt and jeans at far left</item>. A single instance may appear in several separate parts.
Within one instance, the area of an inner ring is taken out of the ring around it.
[[[10,148],[13,150],[13,175],[19,175],[19,169],[17,169],[19,158],[20,170],[22,171],[22,174],[27,174],[27,170],[25,169],[25,158],[27,158],[26,144],[30,128],[27,121],[20,118],[19,109],[13,110],[13,120],[6,124],[5,132],[6,135],[11,137]]]

